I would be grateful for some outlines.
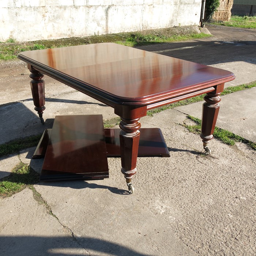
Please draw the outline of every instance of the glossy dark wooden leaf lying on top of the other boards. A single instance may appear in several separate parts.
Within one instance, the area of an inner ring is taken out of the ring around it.
[[[102,115],[56,116],[41,181],[108,177]]]

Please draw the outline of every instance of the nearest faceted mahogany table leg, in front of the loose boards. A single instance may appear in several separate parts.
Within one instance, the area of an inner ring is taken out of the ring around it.
[[[138,156],[138,147],[140,139],[140,118],[133,120],[121,118],[120,131],[120,150],[121,150],[121,172],[126,178],[129,193],[132,194],[134,188],[131,179],[136,173],[136,162]]]

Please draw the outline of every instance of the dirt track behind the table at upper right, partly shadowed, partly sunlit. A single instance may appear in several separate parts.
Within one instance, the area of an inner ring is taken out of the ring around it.
[[[210,38],[139,48],[204,65],[247,61],[256,57],[255,29],[224,26],[208,26],[207,29],[213,35]]]

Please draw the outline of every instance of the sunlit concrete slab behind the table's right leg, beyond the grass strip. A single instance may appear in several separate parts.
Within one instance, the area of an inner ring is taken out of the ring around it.
[[[256,87],[221,97],[217,126],[256,142]],[[175,108],[182,113],[202,118],[203,102]]]

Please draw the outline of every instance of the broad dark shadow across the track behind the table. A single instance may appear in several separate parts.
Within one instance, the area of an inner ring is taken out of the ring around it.
[[[249,61],[256,56],[256,41],[194,40],[137,46],[136,48],[204,65]]]

